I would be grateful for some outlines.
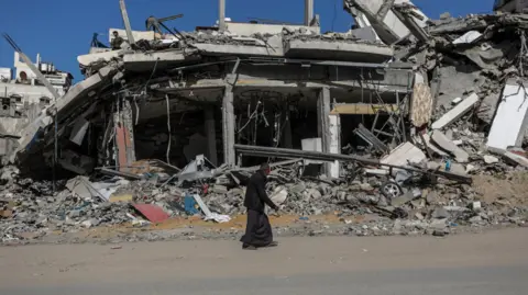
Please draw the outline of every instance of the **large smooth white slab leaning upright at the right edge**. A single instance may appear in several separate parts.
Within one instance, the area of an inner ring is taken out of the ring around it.
[[[524,80],[507,81],[487,136],[488,148],[507,149],[522,144],[528,123],[526,87]]]

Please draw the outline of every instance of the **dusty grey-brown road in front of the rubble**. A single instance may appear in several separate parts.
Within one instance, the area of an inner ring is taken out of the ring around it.
[[[292,238],[0,248],[0,294],[526,295],[528,229],[432,237]]]

